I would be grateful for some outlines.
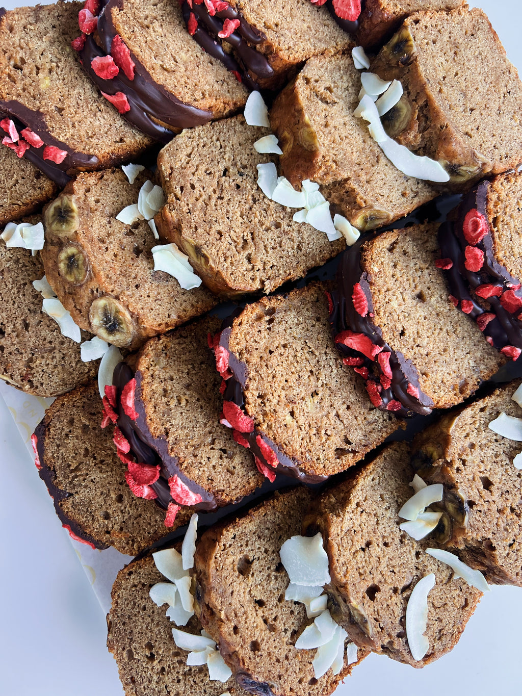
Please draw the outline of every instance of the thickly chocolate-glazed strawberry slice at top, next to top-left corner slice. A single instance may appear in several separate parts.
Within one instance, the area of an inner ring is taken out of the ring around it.
[[[190,38],[178,3],[101,0],[80,56],[89,77],[141,131],[164,143],[173,131],[244,106],[246,88]],[[89,31],[79,15],[82,31]],[[81,40],[80,40],[81,41]]]

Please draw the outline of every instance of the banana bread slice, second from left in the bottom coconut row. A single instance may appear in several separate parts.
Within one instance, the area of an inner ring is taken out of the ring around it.
[[[210,528],[196,546],[196,614],[237,682],[253,694],[328,696],[353,665],[315,679],[315,650],[296,649],[303,604],[285,599],[283,543],[301,534],[311,493],[275,493],[245,516]],[[362,659],[364,654],[358,657]]]

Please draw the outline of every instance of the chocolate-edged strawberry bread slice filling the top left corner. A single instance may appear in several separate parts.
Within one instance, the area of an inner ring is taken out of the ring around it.
[[[4,136],[60,187],[68,175],[118,164],[152,144],[81,69],[71,46],[81,8],[60,0],[0,15],[0,115],[19,139]]]

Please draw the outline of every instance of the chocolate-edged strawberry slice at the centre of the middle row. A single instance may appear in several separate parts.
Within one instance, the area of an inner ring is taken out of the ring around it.
[[[235,438],[274,470],[317,482],[363,459],[399,427],[343,369],[326,287],[313,283],[246,306],[216,341],[223,414]]]

